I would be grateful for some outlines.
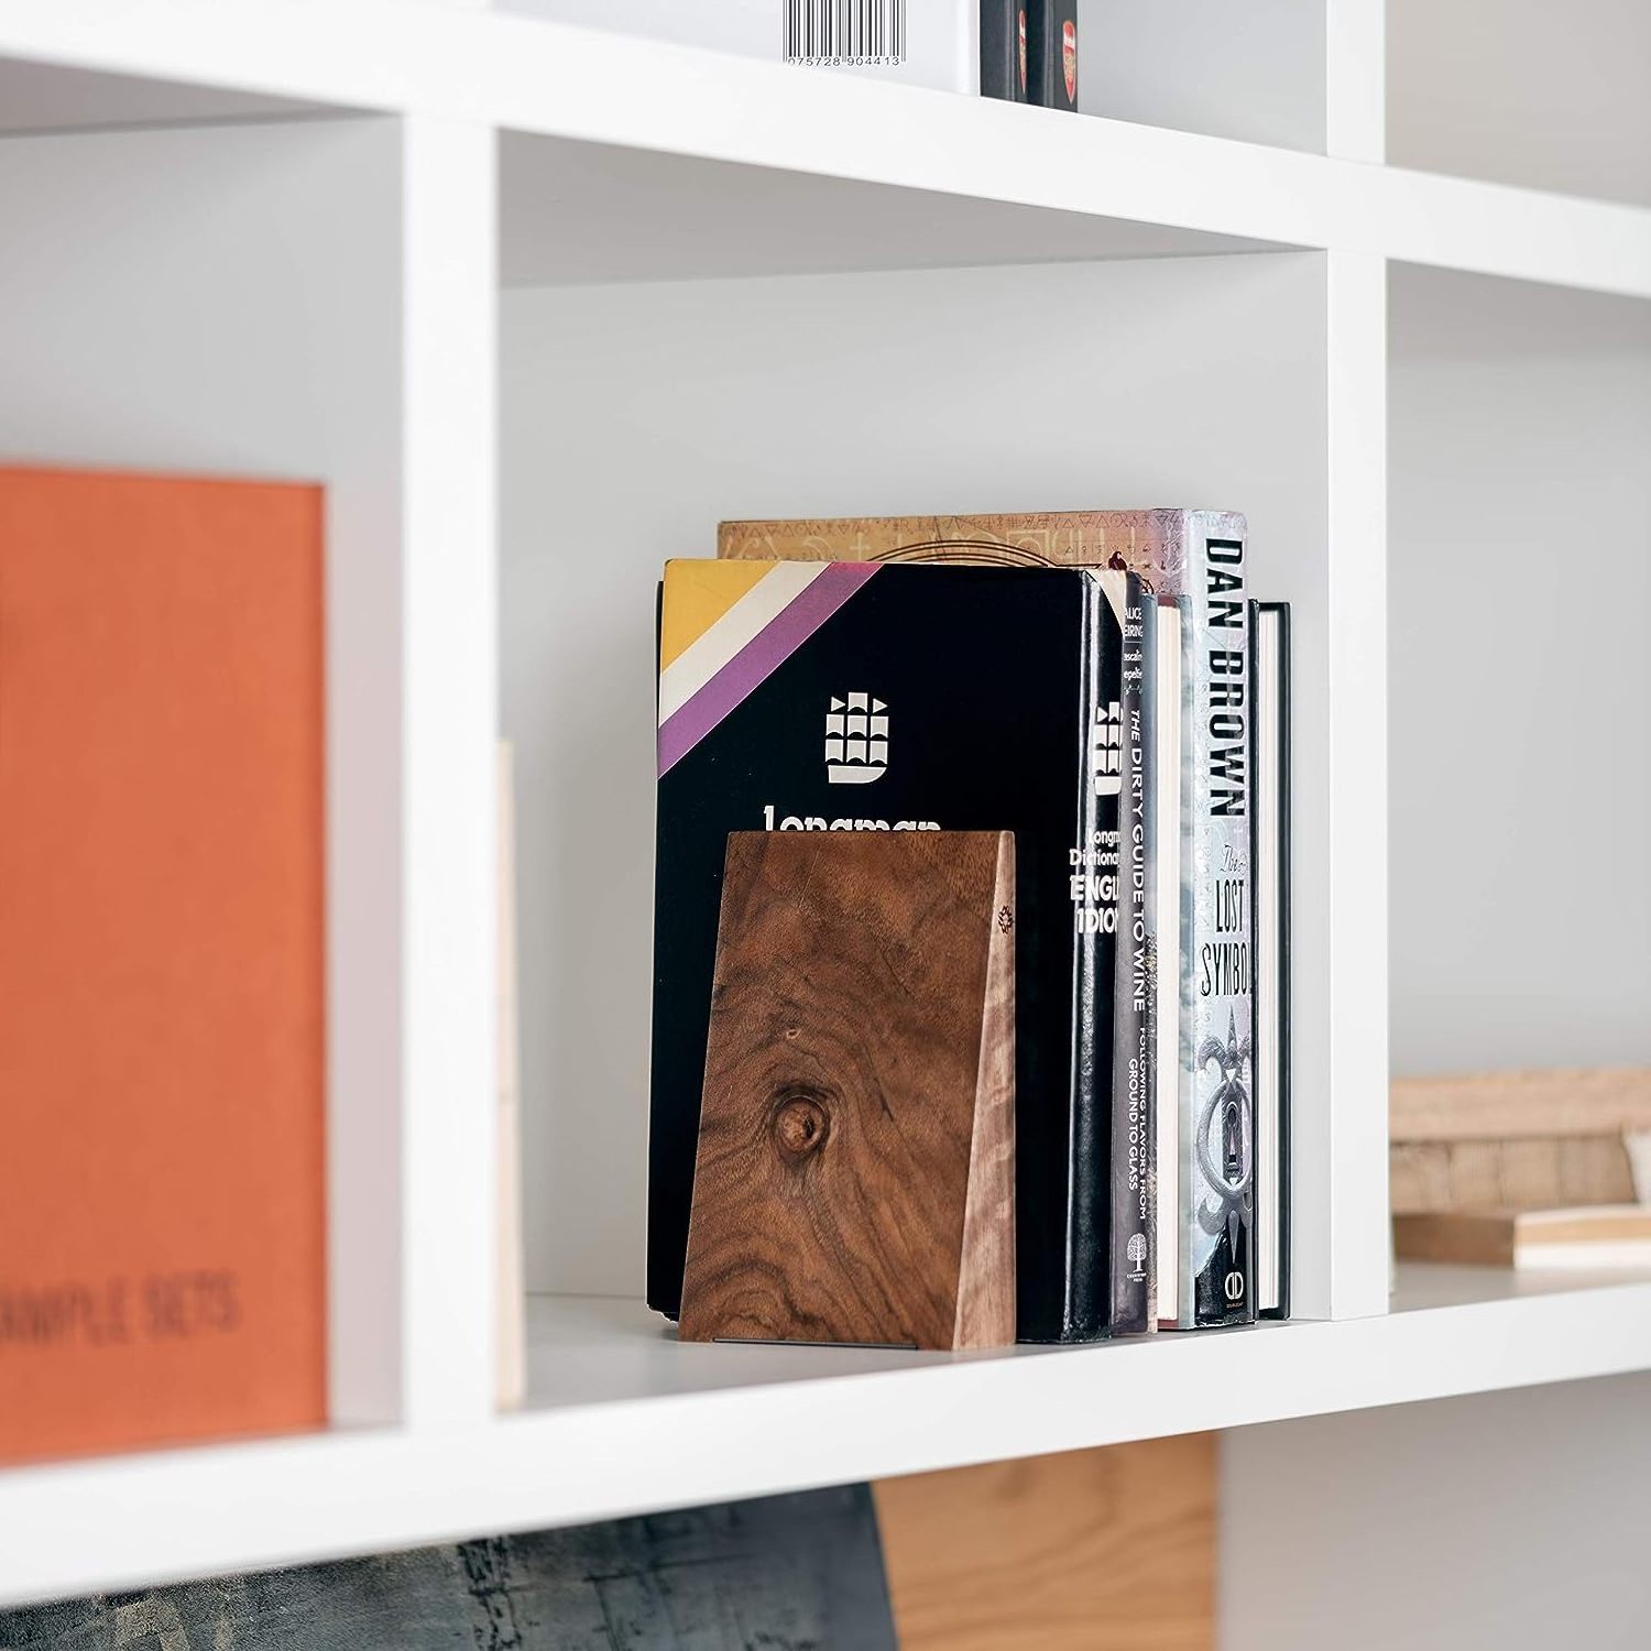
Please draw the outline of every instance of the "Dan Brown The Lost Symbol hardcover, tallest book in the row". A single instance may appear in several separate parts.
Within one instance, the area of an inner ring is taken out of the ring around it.
[[[1157,1322],[1180,1329],[1247,1322],[1258,1306],[1247,542],[1235,512],[1159,509],[723,522],[717,543],[731,560],[1114,566],[1141,575],[1156,593],[1157,692],[1142,697],[1161,758],[1147,788],[1156,797],[1154,880],[1179,887],[1180,900],[1174,915],[1171,900],[1154,901],[1152,1042],[1162,1053],[1151,1062],[1144,1103],[1134,1105],[1156,1139],[1146,1271]],[[1179,996],[1164,991],[1171,982]],[[1126,1067],[1114,1073],[1114,1106],[1124,1109],[1128,1076]],[[1119,1124],[1126,1134],[1128,1118],[1114,1116],[1114,1142]],[[1118,1157],[1114,1207],[1131,1197],[1128,1177],[1128,1159]],[[1275,1184],[1283,1199],[1288,1176],[1280,1180],[1275,1171]],[[1162,1215],[1161,1187],[1174,1205]],[[1114,1235],[1109,1266],[1114,1293],[1134,1289],[1138,1301],[1129,1238]],[[1288,1281],[1281,1288],[1288,1301]],[[1119,1327],[1128,1322],[1126,1311]]]

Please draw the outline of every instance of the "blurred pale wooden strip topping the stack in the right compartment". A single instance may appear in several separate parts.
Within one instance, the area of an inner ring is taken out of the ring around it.
[[[1388,1093],[1393,1141],[1621,1136],[1630,1129],[1651,1129],[1651,1067],[1398,1078]]]

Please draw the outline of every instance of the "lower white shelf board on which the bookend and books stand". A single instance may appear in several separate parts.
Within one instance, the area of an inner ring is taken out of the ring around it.
[[[538,1298],[530,1408],[0,1474],[0,1603],[1651,1369],[1651,1278],[1400,1270],[1385,1317],[1088,1349],[688,1347]]]

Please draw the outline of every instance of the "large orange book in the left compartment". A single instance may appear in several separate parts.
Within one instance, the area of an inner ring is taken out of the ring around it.
[[[325,1420],[322,492],[0,469],[0,1461]]]

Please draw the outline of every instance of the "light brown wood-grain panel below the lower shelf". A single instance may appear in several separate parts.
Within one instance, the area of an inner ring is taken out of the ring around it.
[[[1213,1651],[1213,1433],[873,1489],[901,1651]]]

